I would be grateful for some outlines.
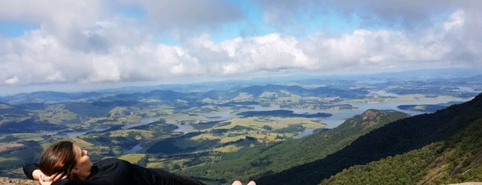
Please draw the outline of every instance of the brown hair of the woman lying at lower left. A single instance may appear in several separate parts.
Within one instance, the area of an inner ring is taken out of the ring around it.
[[[58,142],[53,144],[40,159],[39,168],[45,175],[63,173],[72,178],[72,169],[75,167],[74,144],[72,142]]]

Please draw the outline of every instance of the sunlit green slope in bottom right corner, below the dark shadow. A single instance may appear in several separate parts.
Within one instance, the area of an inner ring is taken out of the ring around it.
[[[454,137],[352,166],[322,184],[454,184],[482,181],[482,119]]]

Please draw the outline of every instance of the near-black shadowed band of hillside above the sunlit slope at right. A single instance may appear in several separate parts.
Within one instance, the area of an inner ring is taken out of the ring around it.
[[[436,113],[417,115],[359,137],[337,153],[281,173],[257,178],[257,184],[319,184],[344,168],[367,164],[439,142],[482,118],[482,94]],[[393,166],[396,168],[396,166]],[[256,179],[256,178],[254,178]]]

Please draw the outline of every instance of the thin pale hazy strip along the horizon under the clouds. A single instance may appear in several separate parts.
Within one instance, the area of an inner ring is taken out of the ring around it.
[[[428,74],[419,75],[419,72],[429,72]],[[120,90],[122,88],[152,88],[159,86],[191,86],[197,84],[217,84],[225,83],[228,81],[243,81],[245,83],[257,84],[255,81],[290,81],[293,79],[352,79],[357,77],[370,77],[378,79],[386,79],[393,77],[394,75],[399,75],[403,73],[404,77],[399,79],[405,80],[424,80],[424,79],[452,79],[452,78],[463,78],[463,77],[475,77],[482,75],[482,71],[472,70],[467,68],[445,68],[445,69],[423,69],[423,70],[405,70],[398,72],[379,72],[379,73],[358,73],[350,75],[286,75],[278,77],[253,77],[250,79],[221,79],[221,80],[206,80],[206,81],[190,81],[185,83],[152,83],[152,82],[133,82],[133,83],[123,83],[123,84],[111,84],[106,86],[106,84],[84,84],[85,86],[79,86],[79,84],[33,84],[24,87],[10,88],[8,91],[1,91],[0,97],[8,97],[13,95],[19,95],[24,93],[37,93],[37,92],[57,92],[57,93],[89,93],[89,92],[101,92],[109,90]],[[267,82],[265,84],[270,84]],[[275,83],[276,84],[276,83]]]

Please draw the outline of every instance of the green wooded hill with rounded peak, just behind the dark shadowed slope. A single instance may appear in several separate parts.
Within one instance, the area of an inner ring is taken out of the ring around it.
[[[391,110],[367,110],[362,115],[347,119],[332,130],[279,144],[267,144],[260,148],[226,153],[212,164],[186,168],[181,173],[219,182],[256,179],[326,157],[341,150],[361,135],[405,117],[409,115]]]

